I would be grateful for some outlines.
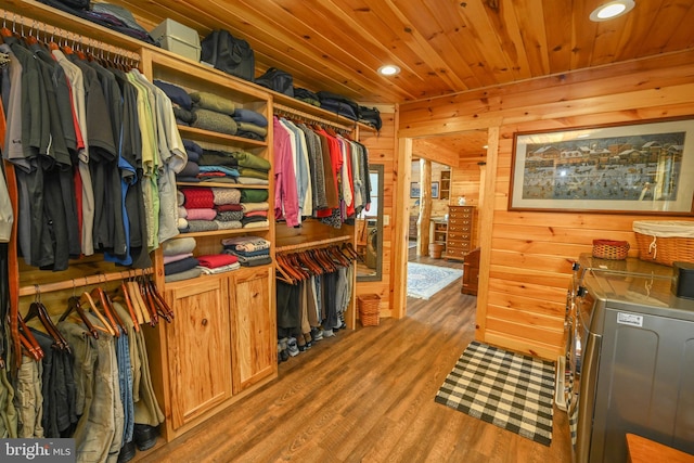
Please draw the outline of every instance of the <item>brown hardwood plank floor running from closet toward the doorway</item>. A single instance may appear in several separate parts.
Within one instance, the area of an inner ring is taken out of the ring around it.
[[[275,382],[138,460],[570,462],[562,411],[545,447],[434,401],[474,337],[475,300],[460,282],[409,298],[404,319],[316,343],[280,364]]]

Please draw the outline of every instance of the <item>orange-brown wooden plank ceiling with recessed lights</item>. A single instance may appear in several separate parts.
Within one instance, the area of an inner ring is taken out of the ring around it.
[[[694,47],[694,1],[635,0],[603,23],[607,0],[113,0],[141,25],[172,18],[201,37],[246,39],[257,73],[275,66],[295,85],[363,103],[402,103]],[[376,69],[402,72],[383,77]],[[479,137],[479,133],[476,133]],[[486,134],[481,134],[486,140]],[[439,140],[448,147],[479,140]],[[481,144],[486,144],[483,142]]]

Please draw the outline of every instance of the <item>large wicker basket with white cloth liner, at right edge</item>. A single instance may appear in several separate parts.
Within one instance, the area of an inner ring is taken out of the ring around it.
[[[641,260],[664,266],[694,262],[694,221],[637,220],[632,227]]]

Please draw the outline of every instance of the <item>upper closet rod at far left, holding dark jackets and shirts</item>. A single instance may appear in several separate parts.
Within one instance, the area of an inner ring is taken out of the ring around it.
[[[136,63],[140,62],[140,54],[136,53],[133,51],[129,51],[126,49],[121,49],[115,46],[111,46],[106,42],[102,42],[100,40],[93,39],[91,37],[86,37],[86,36],[81,36],[79,34],[73,33],[70,30],[64,29],[62,27],[56,27],[47,23],[42,23],[40,21],[37,20],[33,20],[30,17],[27,16],[23,16],[21,14],[17,13],[13,13],[11,11],[8,10],[2,10],[0,9],[0,15],[2,15],[2,27],[3,28],[9,28],[8,24],[11,23],[12,25],[12,31],[14,34],[20,34],[21,36],[24,36],[25,33],[25,28],[28,29],[28,34],[31,35],[31,31],[36,33],[36,38],[37,40],[40,39],[40,34],[43,35],[43,37],[60,37],[63,38],[67,41],[72,41],[73,44],[72,47],[74,48],[74,46],[76,43],[78,43],[79,46],[86,48],[91,48],[91,49],[97,49],[100,51],[104,51],[108,54],[116,54],[118,56],[123,56],[125,59],[128,59],[130,61],[133,61]],[[17,30],[16,28],[20,28],[20,30]],[[83,50],[86,51],[86,50]]]

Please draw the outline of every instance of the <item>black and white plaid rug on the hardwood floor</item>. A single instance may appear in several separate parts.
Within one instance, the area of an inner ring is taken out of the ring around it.
[[[549,446],[554,362],[474,340],[458,359],[435,400]]]

